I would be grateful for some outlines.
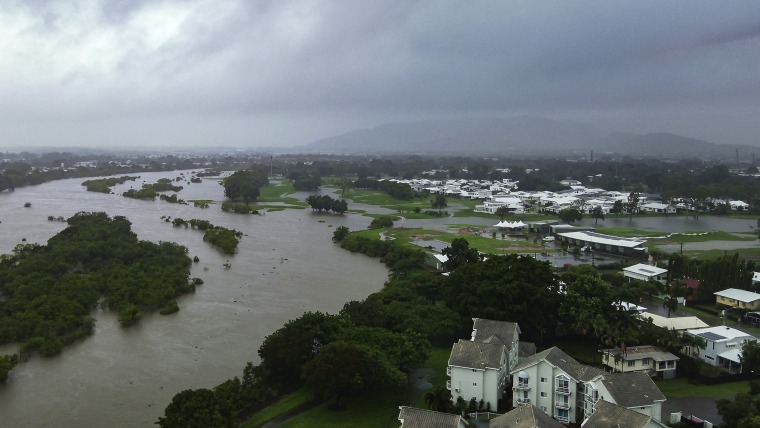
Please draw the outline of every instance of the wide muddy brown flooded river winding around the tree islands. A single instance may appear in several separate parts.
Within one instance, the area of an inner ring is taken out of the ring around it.
[[[182,174],[182,175],[180,175]],[[54,181],[0,193],[0,253],[21,243],[44,244],[65,227],[48,216],[104,211],[132,222],[140,239],[172,241],[198,256],[192,277],[205,284],[178,299],[180,311],[146,315],[121,328],[117,316],[96,311],[92,336],[60,356],[33,357],[0,385],[0,425],[8,427],[153,426],[174,394],[210,388],[240,376],[247,361],[258,361],[264,337],[306,311],[335,313],[350,300],[382,288],[388,271],[377,259],[342,250],[331,241],[337,226],[365,229],[368,217],[314,214],[289,209],[266,215],[222,212],[223,188],[204,179],[191,184],[191,171],[141,173],[114,187],[115,194],[87,192],[85,179]],[[184,200],[210,199],[210,208],[139,201],[121,193],[142,182],[184,177]],[[24,207],[30,202],[30,207]],[[238,254],[225,256],[203,242],[203,233],[175,228],[162,216],[205,219],[245,233]],[[231,267],[223,265],[229,262]],[[0,347],[0,353],[12,352]]]

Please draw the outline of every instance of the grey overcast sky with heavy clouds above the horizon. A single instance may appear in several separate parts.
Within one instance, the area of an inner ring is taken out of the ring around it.
[[[0,149],[538,115],[760,145],[755,1],[0,1]]]

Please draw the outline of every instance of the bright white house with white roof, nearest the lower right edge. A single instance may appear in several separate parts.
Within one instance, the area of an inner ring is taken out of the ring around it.
[[[684,354],[729,370],[741,367],[739,355],[744,347],[744,341],[757,341],[755,336],[727,326],[697,328],[686,330],[686,333],[704,339],[705,346],[700,348],[687,346],[684,348]]]

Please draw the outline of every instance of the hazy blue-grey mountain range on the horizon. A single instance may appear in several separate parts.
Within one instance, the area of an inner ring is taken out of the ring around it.
[[[759,147],[722,145],[670,133],[633,134],[541,117],[388,123],[311,143],[309,151],[344,154],[604,155],[741,159]]]

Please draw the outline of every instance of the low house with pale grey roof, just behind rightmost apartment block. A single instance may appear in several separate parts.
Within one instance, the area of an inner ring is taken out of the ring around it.
[[[628,346],[601,351],[602,364],[619,373],[644,372],[662,379],[676,377],[679,358],[655,346]]]

